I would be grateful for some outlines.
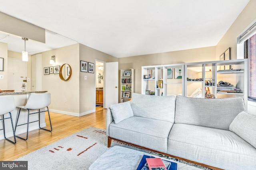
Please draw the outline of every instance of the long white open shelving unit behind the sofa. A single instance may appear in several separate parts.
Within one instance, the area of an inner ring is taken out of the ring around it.
[[[227,65],[230,65],[233,70],[219,71],[221,66]],[[172,78],[168,78],[168,69],[172,69],[175,72],[175,69],[180,68],[182,70],[181,79],[174,78],[175,74],[173,74]],[[151,75],[152,78],[145,78],[145,75]],[[209,75],[212,78],[212,83],[206,85],[205,82]],[[162,80],[162,88],[158,88],[158,80]],[[217,84],[220,80],[233,84],[240,89],[240,92],[217,93]],[[214,94],[216,98],[240,96],[244,98],[247,106],[248,59],[142,66],[142,94],[145,94],[146,90],[150,90],[155,92],[155,96],[161,96],[161,94],[163,96],[177,94],[190,96],[197,88],[202,89],[201,98],[205,98],[205,90],[209,89],[210,93]]]

